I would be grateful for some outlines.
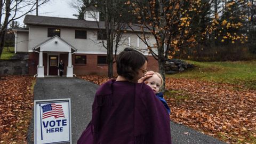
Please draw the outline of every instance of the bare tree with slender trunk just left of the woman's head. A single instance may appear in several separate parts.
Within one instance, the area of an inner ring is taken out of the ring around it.
[[[116,52],[123,37],[123,33],[125,31],[125,23],[123,19],[124,13],[127,12],[125,9],[124,3],[126,0],[98,0],[98,1],[90,1],[90,0],[78,0],[81,6],[74,6],[78,8],[78,12],[84,12],[86,7],[95,6],[97,10],[102,15],[101,18],[105,21],[105,28],[102,29],[97,21],[98,28],[100,29],[101,37],[106,36],[105,38],[101,38],[102,46],[107,50],[107,63],[108,63],[108,77],[113,77],[113,63],[116,58]],[[82,2],[81,2],[82,1]],[[95,15],[91,14],[95,19]],[[115,52],[115,54],[113,54]]]

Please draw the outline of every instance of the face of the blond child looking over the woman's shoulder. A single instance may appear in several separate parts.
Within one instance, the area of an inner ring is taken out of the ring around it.
[[[147,85],[151,87],[155,94],[159,92],[162,81],[157,75],[154,74],[149,77],[146,82],[148,82]]]

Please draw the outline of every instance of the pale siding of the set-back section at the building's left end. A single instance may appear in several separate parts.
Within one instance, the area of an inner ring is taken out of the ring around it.
[[[15,43],[17,52],[28,52],[28,32],[17,31],[17,41]]]

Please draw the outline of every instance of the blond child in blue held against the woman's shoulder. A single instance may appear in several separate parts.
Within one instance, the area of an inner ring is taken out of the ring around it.
[[[151,72],[154,72],[154,71],[148,71],[148,73],[151,73]],[[167,109],[168,113],[171,114],[171,110],[168,107],[166,101],[164,100],[163,93],[159,92],[161,86],[163,85],[162,76],[159,73],[154,72],[153,76],[145,80],[145,83],[151,87],[151,89],[156,94],[157,98],[164,104],[164,107]]]

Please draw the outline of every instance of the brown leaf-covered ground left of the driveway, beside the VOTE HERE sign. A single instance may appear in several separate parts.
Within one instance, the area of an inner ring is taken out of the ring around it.
[[[28,76],[0,78],[0,143],[26,143],[34,83],[35,78]]]

